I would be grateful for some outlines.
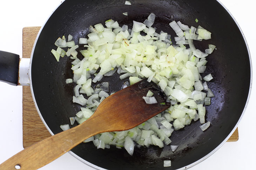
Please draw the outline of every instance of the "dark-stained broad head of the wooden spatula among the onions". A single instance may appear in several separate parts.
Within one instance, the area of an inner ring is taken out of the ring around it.
[[[154,93],[156,104],[147,104],[142,98],[149,90]],[[104,99],[90,119],[102,118],[104,125],[99,125],[102,128],[109,124],[102,132],[128,130],[168,109],[170,103],[166,99],[155,83],[144,79]]]

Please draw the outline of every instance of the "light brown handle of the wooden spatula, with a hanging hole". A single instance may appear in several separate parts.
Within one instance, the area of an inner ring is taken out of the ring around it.
[[[67,151],[97,134],[95,119],[88,119],[83,124],[50,136],[35,143],[0,165],[0,170],[36,170],[54,161]]]

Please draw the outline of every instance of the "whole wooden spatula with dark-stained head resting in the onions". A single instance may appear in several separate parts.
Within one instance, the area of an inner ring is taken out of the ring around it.
[[[142,98],[149,90],[157,104],[146,104]],[[0,170],[39,169],[93,135],[129,130],[143,123],[170,107],[166,99],[155,83],[144,79],[104,99],[84,123],[20,151],[2,163]]]

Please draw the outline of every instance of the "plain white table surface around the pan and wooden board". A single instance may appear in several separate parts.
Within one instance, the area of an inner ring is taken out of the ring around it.
[[[22,28],[42,26],[60,2],[61,0],[0,1],[0,50],[22,56]],[[248,108],[238,125],[239,140],[225,143],[216,153],[195,165],[191,170],[248,170],[255,167],[256,113],[253,109],[256,104],[255,3],[253,4],[253,1],[250,0],[221,0],[221,2],[233,14],[249,44],[254,67],[254,87],[251,91]],[[235,46],[236,44],[234,44],[234,48]],[[22,87],[0,82],[0,116],[0,163],[2,163],[23,149]],[[41,170],[70,170],[72,168],[93,170],[69,153],[49,163]]]

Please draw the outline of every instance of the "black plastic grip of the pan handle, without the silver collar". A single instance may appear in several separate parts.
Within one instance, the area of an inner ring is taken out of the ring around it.
[[[0,51],[0,81],[17,86],[19,62],[18,54]]]

